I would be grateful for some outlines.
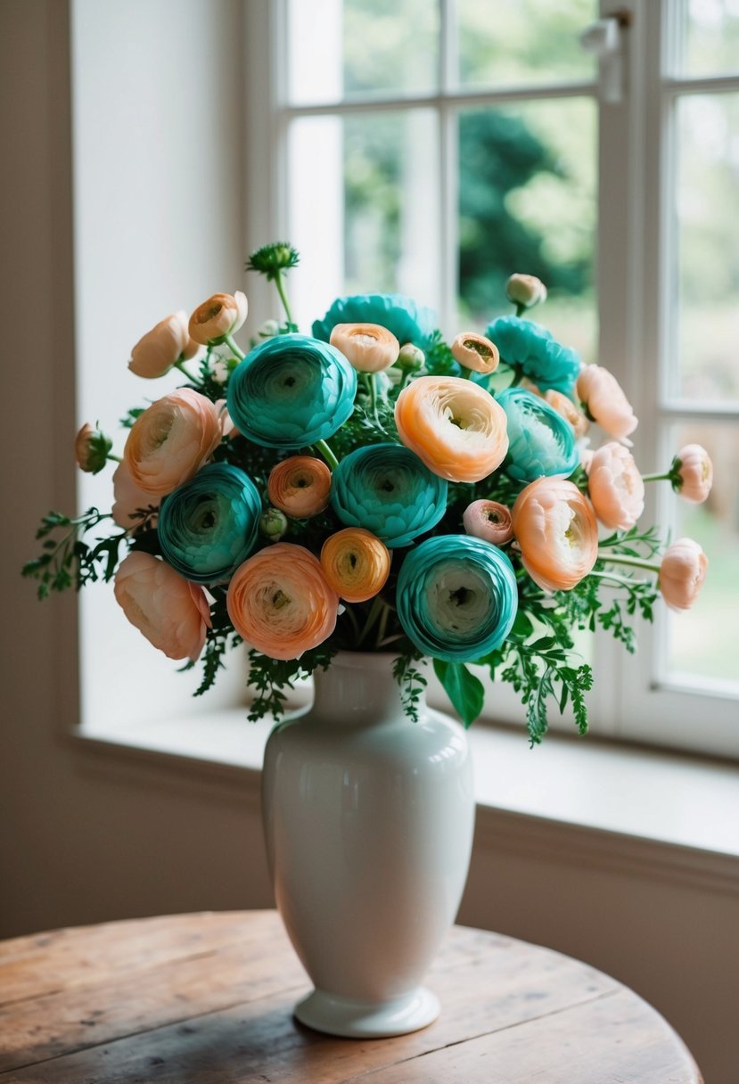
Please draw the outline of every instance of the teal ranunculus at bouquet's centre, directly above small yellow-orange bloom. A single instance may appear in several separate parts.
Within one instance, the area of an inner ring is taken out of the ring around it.
[[[368,444],[341,460],[330,502],[348,527],[364,527],[388,546],[410,545],[446,511],[448,485],[402,444]]]

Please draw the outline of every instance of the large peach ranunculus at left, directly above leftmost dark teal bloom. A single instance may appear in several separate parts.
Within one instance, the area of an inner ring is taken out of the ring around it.
[[[165,496],[197,474],[220,442],[215,405],[192,388],[178,388],[135,420],[124,462],[134,486]]]

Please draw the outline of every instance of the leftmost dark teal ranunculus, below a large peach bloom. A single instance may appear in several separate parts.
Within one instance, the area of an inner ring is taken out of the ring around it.
[[[161,556],[194,583],[228,580],[257,540],[262,502],[257,487],[230,463],[209,463],[161,502]]]

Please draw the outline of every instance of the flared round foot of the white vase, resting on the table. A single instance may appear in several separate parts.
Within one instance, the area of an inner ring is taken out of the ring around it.
[[[295,1007],[300,1023],[341,1038],[390,1038],[427,1028],[439,1016],[430,990],[415,990],[387,1002],[358,1002],[314,990]]]

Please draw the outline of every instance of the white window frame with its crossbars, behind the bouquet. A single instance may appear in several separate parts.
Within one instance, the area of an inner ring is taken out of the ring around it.
[[[247,237],[256,247],[277,236],[289,236],[285,149],[287,129],[297,117],[317,114],[355,114],[383,107],[424,106],[440,117],[440,182],[442,215],[442,284],[440,323],[449,333],[454,319],[457,250],[457,182],[455,113],[465,106],[501,104],[592,94],[600,99],[599,214],[597,269],[599,302],[598,361],[618,377],[637,405],[643,423],[635,435],[635,454],[645,470],[654,469],[674,450],[665,434],[679,417],[736,421],[737,413],[714,406],[699,411],[665,398],[669,357],[669,269],[672,260],[671,202],[673,155],[670,104],[680,90],[739,89],[737,79],[675,79],[662,75],[665,57],[673,55],[669,34],[682,12],[682,0],[628,0],[631,25],[623,35],[623,87],[620,102],[610,102],[598,82],[571,82],[484,92],[452,86],[454,0],[440,0],[440,89],[414,96],[387,95],[321,105],[287,101],[285,86],[286,0],[247,4],[247,65],[269,88],[257,104],[247,94],[247,160],[251,188],[247,193]],[[601,16],[612,4],[601,0]],[[258,48],[258,42],[270,48]],[[270,64],[270,59],[272,63]],[[268,101],[265,101],[265,98]],[[265,214],[264,208],[269,207]],[[308,257],[309,254],[306,254]],[[654,285],[657,284],[657,285]],[[367,284],[370,288],[371,284]],[[650,304],[645,304],[650,297]],[[420,298],[419,300],[424,300]],[[643,359],[659,359],[659,365]],[[659,377],[657,374],[660,374]],[[647,425],[645,418],[657,424]],[[645,522],[664,522],[675,498],[663,486],[650,491]],[[660,606],[660,609],[662,607]],[[689,618],[684,618],[689,620]],[[630,657],[607,635],[598,635],[596,681],[589,694],[595,732],[610,737],[691,748],[716,756],[739,757],[739,700],[706,683],[678,684],[656,678],[660,668],[661,617],[653,627],[639,627],[639,650]],[[496,714],[520,717],[520,706],[509,691],[496,689]],[[556,708],[553,711],[557,715]],[[696,720],[700,719],[700,725]]]

